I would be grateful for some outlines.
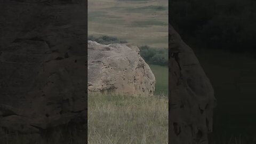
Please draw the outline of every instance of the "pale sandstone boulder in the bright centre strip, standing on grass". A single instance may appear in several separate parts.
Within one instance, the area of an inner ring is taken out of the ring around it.
[[[153,95],[155,76],[137,46],[88,41],[88,90]]]

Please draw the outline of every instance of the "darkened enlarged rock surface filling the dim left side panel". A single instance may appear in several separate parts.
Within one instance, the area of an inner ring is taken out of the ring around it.
[[[87,122],[86,5],[41,2],[1,2],[0,131]]]

